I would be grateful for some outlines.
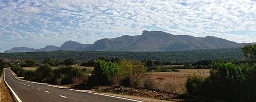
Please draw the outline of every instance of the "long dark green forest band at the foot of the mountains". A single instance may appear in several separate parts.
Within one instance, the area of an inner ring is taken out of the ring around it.
[[[165,63],[195,63],[200,60],[240,60],[243,55],[239,48],[226,49],[196,49],[179,52],[110,52],[110,51],[54,51],[54,52],[31,52],[31,53],[3,53],[0,57],[4,59],[26,60],[35,59],[43,61],[51,58],[54,61],[62,62],[65,59],[72,58],[75,62],[84,62],[105,58],[123,58],[127,60],[142,61],[151,59]]]

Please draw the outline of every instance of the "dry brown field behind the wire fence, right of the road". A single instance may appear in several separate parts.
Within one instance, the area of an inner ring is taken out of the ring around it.
[[[153,79],[156,90],[166,92],[185,93],[185,83],[188,75],[199,75],[207,77],[210,69],[179,69],[178,72],[150,72],[150,78]]]

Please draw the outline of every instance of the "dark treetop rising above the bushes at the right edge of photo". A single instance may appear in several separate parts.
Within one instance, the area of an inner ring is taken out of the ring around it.
[[[245,61],[249,63],[256,63],[256,44],[244,45],[241,47],[242,52],[245,56]]]

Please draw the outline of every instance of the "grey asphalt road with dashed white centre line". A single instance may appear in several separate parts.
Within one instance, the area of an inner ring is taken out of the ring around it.
[[[9,69],[4,69],[5,80],[23,102],[26,101],[136,101],[69,89],[56,88],[17,80]]]

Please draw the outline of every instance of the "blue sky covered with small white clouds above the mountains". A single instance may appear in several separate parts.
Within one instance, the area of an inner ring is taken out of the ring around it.
[[[256,1],[0,1],[0,52],[68,40],[140,35],[143,30],[256,42]]]

